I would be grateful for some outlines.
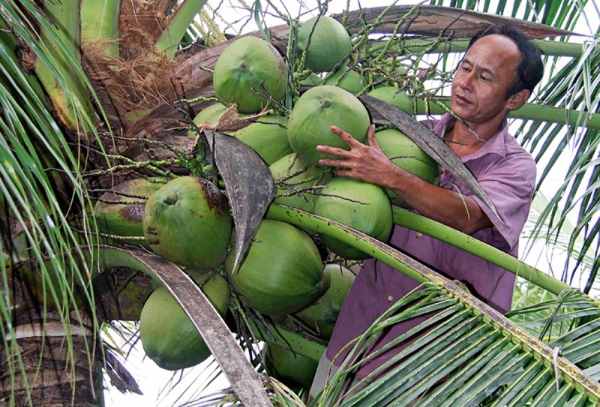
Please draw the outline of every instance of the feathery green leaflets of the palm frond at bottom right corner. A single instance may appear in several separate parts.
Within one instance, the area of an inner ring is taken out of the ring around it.
[[[598,337],[597,322],[546,345],[499,314],[494,315],[490,308],[481,307],[483,304],[471,303],[473,297],[467,293],[464,297],[456,295],[457,291],[450,294],[447,288],[425,283],[422,290],[382,315],[358,339],[355,353],[349,358],[360,356],[385,328],[439,309],[435,317],[381,350],[411,343],[367,376],[367,383],[376,378],[372,383],[343,403],[322,404],[335,396],[345,375],[367,359],[346,362],[317,405],[403,406],[414,399],[419,405],[444,406],[517,406],[531,400],[532,405],[538,405],[551,398],[564,403],[579,398],[590,404],[598,402],[600,386],[583,371],[598,369],[596,351],[590,349],[594,336]],[[570,291],[562,297],[563,306],[579,308],[578,312],[563,315],[571,318],[570,322],[588,313],[598,315],[597,304],[591,304],[582,294]],[[561,322],[561,318],[555,318],[554,324]],[[556,356],[559,348],[560,356]]]

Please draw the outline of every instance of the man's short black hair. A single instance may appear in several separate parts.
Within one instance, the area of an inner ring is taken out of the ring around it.
[[[533,92],[533,88],[540,82],[544,76],[544,64],[542,62],[542,54],[540,50],[533,45],[529,38],[523,34],[518,28],[510,25],[499,25],[485,28],[479,31],[471,38],[467,51],[478,39],[487,35],[499,34],[510,38],[517,44],[521,51],[521,61],[517,66],[517,76],[506,93],[506,98],[515,93],[528,89]]]

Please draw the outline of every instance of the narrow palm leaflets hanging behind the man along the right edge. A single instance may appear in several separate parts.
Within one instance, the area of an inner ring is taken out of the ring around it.
[[[556,82],[548,85],[541,92],[546,103],[562,105],[569,108],[580,107],[590,112],[598,111],[600,93],[597,82],[600,71],[597,61],[600,58],[600,47],[597,40],[586,47],[585,58],[575,59],[567,64],[556,77]],[[566,90],[569,90],[567,93]],[[569,96],[571,95],[571,96]],[[580,115],[578,120],[585,124],[587,117]],[[564,176],[562,185],[550,199],[548,206],[542,211],[534,236],[547,236],[548,241],[556,241],[565,225],[567,216],[577,216],[577,224],[571,233],[569,249],[577,246],[578,240],[583,240],[580,254],[569,259],[565,264],[564,281],[572,281],[575,272],[581,267],[586,254],[597,257],[598,225],[594,214],[598,209],[598,167],[597,151],[600,134],[597,130],[572,127],[563,129],[549,125],[531,126],[522,135],[525,143],[531,145],[536,159],[546,162],[542,171],[540,183],[547,179],[556,166],[562,165],[564,155],[568,154],[568,146],[573,148],[573,159]],[[546,226],[544,226],[546,222]],[[590,277],[585,285],[585,292],[592,288],[598,271],[598,264],[592,265]],[[567,271],[568,270],[568,271]]]

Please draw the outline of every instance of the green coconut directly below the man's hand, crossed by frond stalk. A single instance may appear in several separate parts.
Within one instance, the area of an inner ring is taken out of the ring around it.
[[[382,242],[392,232],[392,204],[385,190],[352,178],[334,178],[315,202],[315,215],[357,229]],[[323,235],[323,244],[345,259],[366,259],[368,254],[333,237]]]

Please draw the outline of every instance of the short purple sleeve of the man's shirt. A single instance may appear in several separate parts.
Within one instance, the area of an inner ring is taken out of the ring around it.
[[[467,191],[508,243],[509,251],[518,244],[519,235],[527,221],[535,177],[535,161],[527,153],[506,157],[477,176],[477,181],[494,203],[500,219],[478,197]]]

